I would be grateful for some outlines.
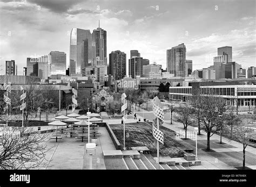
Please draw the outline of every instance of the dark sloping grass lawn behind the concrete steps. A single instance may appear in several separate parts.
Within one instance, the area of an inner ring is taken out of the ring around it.
[[[110,125],[118,141],[123,147],[124,130],[123,124]],[[164,145],[160,145],[161,156],[183,157],[183,151],[178,147],[182,147],[177,140],[175,140],[176,133],[170,129],[160,126],[160,130],[164,133]],[[146,146],[150,149],[152,156],[157,156],[156,145],[154,144],[154,137],[152,135],[152,125],[147,123],[130,123],[125,124],[125,147],[131,149],[136,146]]]

